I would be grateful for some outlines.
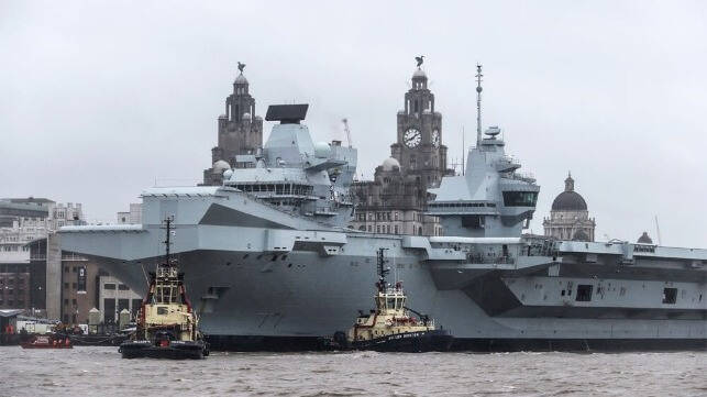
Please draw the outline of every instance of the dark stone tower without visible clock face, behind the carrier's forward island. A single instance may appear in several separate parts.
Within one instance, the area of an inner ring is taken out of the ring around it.
[[[203,170],[203,185],[221,185],[223,170],[242,168],[236,155],[255,154],[263,146],[263,118],[255,115],[255,98],[241,71],[233,93],[225,99],[225,113],[218,120],[218,145],[211,150],[211,168]]]

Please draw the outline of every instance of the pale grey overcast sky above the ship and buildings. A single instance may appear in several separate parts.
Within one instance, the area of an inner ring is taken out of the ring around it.
[[[197,184],[237,60],[257,114],[310,103],[316,141],[347,118],[371,178],[424,55],[450,162],[484,65],[484,124],[541,185],[533,232],[572,170],[597,240],[658,242],[658,217],[664,245],[707,249],[706,2],[342,3],[0,0],[0,197],[113,222],[147,187]]]

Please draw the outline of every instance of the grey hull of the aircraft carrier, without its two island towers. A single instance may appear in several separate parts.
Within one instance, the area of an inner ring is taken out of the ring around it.
[[[258,228],[242,224],[253,213],[275,223],[269,216],[281,213],[242,192],[225,195],[234,207],[157,196],[143,197],[146,213],[151,205],[159,214],[179,203],[174,252],[187,264],[185,283],[214,350],[316,349],[367,307],[362,286],[376,282],[378,247],[415,289],[410,306],[454,330],[454,349],[707,348],[706,258],[697,250]],[[218,222],[232,225],[209,224],[214,206]],[[63,245],[142,288],[158,256],[148,249],[157,244],[145,243],[161,239],[158,222],[104,229],[67,230]],[[479,250],[495,260],[472,254]]]

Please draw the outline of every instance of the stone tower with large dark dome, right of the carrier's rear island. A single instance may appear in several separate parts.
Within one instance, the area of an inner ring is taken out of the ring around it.
[[[587,202],[574,191],[574,179],[567,174],[565,190],[552,201],[550,218],[542,222],[545,235],[559,240],[594,241],[596,223],[589,218]]]

